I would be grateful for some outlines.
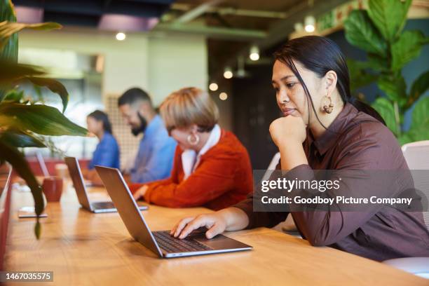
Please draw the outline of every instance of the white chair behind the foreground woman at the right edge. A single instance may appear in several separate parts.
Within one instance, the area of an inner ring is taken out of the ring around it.
[[[410,170],[429,170],[429,140],[404,144],[402,153]],[[427,172],[429,174],[429,172]],[[418,172],[413,176],[416,189],[423,191],[429,198],[429,175]],[[423,212],[426,228],[429,229],[429,212]],[[395,268],[429,279],[429,257],[406,257],[383,261]]]

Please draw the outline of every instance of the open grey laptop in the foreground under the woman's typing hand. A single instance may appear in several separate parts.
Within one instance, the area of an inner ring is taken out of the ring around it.
[[[118,169],[95,166],[104,186],[128,232],[139,243],[162,258],[186,257],[200,254],[235,252],[250,250],[252,247],[226,236],[205,238],[204,233],[196,233],[184,239],[170,236],[170,231],[151,231]]]

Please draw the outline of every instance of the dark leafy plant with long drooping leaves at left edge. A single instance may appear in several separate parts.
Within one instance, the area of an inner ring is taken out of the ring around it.
[[[11,0],[0,0],[0,164],[7,161],[27,182],[34,198],[38,215],[34,231],[39,239],[41,225],[39,215],[44,202],[41,186],[30,170],[25,156],[18,148],[46,147],[43,135],[80,135],[87,130],[69,121],[64,116],[69,94],[62,83],[43,77],[40,67],[18,64],[18,34],[22,29],[60,29],[57,23],[22,24],[16,22]],[[57,93],[62,100],[62,112],[49,107],[40,100],[25,97],[17,86],[29,81]]]

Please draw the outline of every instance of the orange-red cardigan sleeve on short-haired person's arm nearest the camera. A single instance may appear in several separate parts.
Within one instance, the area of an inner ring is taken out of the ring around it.
[[[195,207],[221,196],[235,186],[237,154],[213,154],[183,182],[153,184],[144,195],[148,203],[165,207]]]

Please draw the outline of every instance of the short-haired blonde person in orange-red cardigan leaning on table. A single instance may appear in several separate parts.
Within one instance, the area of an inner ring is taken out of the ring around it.
[[[136,200],[220,210],[252,191],[249,154],[232,132],[217,124],[219,111],[210,95],[198,88],[182,88],[164,100],[160,113],[178,143],[171,177],[131,184]]]

